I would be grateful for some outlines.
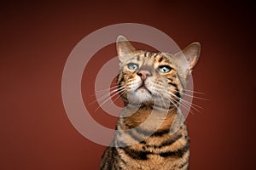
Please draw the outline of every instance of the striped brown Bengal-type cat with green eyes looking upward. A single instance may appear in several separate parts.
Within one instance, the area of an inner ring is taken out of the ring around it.
[[[178,108],[201,44],[193,42],[177,54],[154,53],[119,36],[116,46],[125,107],[100,169],[189,169],[189,134]]]

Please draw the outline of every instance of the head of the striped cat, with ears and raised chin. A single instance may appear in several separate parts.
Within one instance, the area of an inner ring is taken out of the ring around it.
[[[125,103],[177,103],[201,51],[199,42],[177,54],[137,50],[123,36],[117,38],[116,46],[120,67],[117,82]]]

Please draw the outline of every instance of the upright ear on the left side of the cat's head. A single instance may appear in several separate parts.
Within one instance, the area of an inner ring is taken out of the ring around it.
[[[136,49],[131,45],[131,42],[123,36],[117,37],[116,48],[121,62],[126,60],[125,58],[127,57],[127,54],[133,54],[136,51]]]

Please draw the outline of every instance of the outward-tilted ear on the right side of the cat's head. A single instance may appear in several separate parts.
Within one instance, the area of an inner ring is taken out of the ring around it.
[[[189,70],[192,70],[199,59],[200,52],[201,44],[199,42],[193,42],[186,48],[183,48],[181,52],[177,53],[177,57],[183,55],[189,64]]]

